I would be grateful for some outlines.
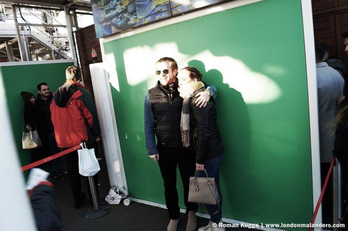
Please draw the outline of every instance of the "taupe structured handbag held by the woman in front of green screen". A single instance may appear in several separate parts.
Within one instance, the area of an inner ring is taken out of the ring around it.
[[[196,177],[197,171],[195,171],[194,176],[189,177],[187,200],[188,202],[194,203],[217,204],[220,210],[220,197],[218,195],[216,182],[214,178],[208,177],[205,169],[204,172],[206,177]],[[217,212],[218,210],[215,213]]]

